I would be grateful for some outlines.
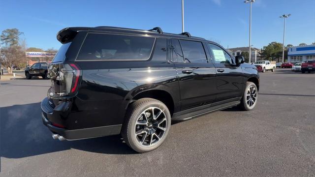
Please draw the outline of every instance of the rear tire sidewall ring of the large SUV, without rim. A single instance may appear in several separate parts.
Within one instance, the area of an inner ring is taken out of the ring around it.
[[[137,121],[138,117],[140,116],[140,114],[150,107],[157,107],[164,112],[165,117],[166,117],[167,126],[166,126],[166,130],[165,130],[163,137],[155,145],[153,145],[150,148],[147,148],[147,147],[143,147],[139,144],[136,136],[134,136],[134,130],[135,130],[136,121]],[[166,139],[168,132],[170,130],[171,115],[170,115],[170,112],[167,109],[167,107],[162,102],[159,102],[157,100],[157,101],[150,101],[147,104],[143,104],[138,110],[133,112],[133,114],[130,116],[131,117],[128,121],[128,132],[127,132],[128,135],[127,136],[128,136],[129,141],[130,141],[130,146],[132,146],[132,148],[134,150],[136,150],[138,152],[148,152],[148,151],[151,151],[153,149],[158,148],[164,142],[164,140]]]

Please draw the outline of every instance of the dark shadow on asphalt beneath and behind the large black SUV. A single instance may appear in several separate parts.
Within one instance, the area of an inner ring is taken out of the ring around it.
[[[0,155],[22,158],[70,148],[108,154],[136,153],[120,135],[77,141],[53,140],[41,120],[40,103],[1,107]]]

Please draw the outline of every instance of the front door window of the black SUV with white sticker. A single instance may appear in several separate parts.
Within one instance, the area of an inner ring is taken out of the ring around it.
[[[208,47],[215,63],[232,63],[231,57],[221,47],[210,43],[208,43]]]

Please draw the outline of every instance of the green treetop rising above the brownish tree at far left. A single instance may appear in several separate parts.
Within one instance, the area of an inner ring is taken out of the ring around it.
[[[19,36],[23,34],[19,29],[5,29],[0,35],[1,44],[6,46],[17,46],[19,45]]]

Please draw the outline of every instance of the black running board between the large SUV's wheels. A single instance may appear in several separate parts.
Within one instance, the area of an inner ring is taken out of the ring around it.
[[[240,103],[241,103],[241,101],[231,101],[231,102],[228,102],[228,103],[216,105],[216,106],[213,106],[213,107],[208,107],[206,109],[190,112],[190,113],[187,113],[187,114],[181,114],[181,112],[178,112],[178,113],[175,113],[173,115],[172,121],[188,120],[188,119],[191,119],[191,118],[202,116],[204,114],[208,114],[208,113],[220,111],[220,110],[223,110],[223,109],[227,109],[227,108],[230,108],[230,107],[233,107],[233,106],[237,106]],[[187,110],[185,110],[185,112],[186,111]]]

